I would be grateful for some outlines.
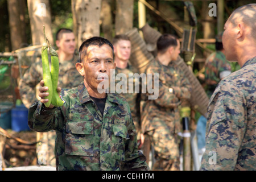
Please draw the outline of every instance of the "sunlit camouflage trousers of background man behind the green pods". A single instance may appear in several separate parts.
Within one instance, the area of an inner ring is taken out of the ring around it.
[[[54,130],[36,134],[36,140],[38,142],[36,145],[38,164],[52,167],[56,166],[54,153],[55,137],[56,132]]]

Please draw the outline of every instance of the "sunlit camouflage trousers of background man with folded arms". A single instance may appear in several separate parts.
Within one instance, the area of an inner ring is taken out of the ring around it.
[[[152,167],[154,171],[179,171],[179,140],[165,126],[158,126],[154,130],[147,132],[151,140],[151,145],[155,151],[155,163]]]

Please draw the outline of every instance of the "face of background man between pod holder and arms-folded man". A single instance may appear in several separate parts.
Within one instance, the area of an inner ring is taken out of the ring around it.
[[[129,60],[131,55],[131,42],[129,40],[119,40],[114,45],[114,54],[119,60]]]

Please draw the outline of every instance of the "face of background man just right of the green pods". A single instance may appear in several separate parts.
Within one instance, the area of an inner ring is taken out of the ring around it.
[[[75,52],[75,35],[73,32],[64,33],[60,40],[56,40],[56,46],[59,48],[60,51],[64,53],[73,54]]]

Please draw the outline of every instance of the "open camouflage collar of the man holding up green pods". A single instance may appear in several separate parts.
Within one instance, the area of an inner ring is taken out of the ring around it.
[[[88,101],[92,101],[83,81],[77,86],[77,91],[78,91],[77,96],[79,97],[81,104],[84,104]],[[106,100],[108,100],[109,102],[114,102],[119,105],[118,97],[112,93],[107,94]]]

